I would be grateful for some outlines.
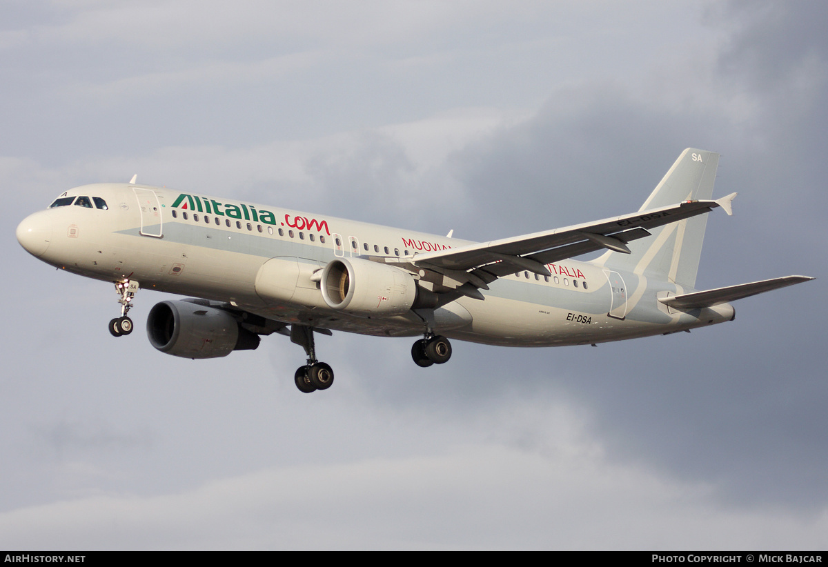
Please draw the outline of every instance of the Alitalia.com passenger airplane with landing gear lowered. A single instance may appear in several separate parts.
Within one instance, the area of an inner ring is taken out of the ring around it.
[[[82,185],[17,227],[43,262],[110,281],[132,332],[139,288],[192,296],[156,304],[147,336],[163,353],[224,357],[283,334],[305,349],[301,392],[334,382],[314,335],[420,337],[421,367],[450,339],[593,346],[734,320],[730,301],[814,278],[783,276],[697,291],[719,154],[688,148],[635,213],[473,243],[235,199],[129,183]],[[581,262],[574,257],[604,253]]]

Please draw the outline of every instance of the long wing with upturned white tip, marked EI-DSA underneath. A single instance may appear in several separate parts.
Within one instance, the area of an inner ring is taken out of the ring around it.
[[[498,277],[522,270],[551,276],[546,264],[566,258],[604,248],[629,253],[627,243],[649,236],[647,229],[705,214],[716,207],[732,214],[730,203],[735,196],[733,193],[717,200],[688,200],[595,223],[426,252],[412,258],[386,258],[385,261],[408,263],[417,269],[434,271],[445,276],[444,281],[462,294],[483,299],[477,290],[488,290],[488,284]]]

